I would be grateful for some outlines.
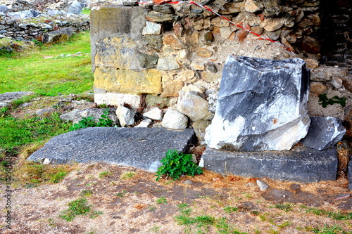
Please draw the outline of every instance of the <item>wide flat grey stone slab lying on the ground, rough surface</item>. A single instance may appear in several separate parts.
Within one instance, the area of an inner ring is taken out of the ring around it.
[[[193,143],[193,129],[171,131],[162,128],[78,129],[51,138],[28,160],[49,159],[70,162],[108,162],[146,171],[157,171],[168,149],[184,152]]]

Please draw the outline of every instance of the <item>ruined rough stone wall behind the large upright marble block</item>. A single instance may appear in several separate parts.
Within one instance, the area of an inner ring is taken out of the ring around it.
[[[172,104],[186,86],[211,96],[230,53],[320,58],[320,1],[203,4],[296,54],[193,4],[101,6],[91,13],[96,103]]]

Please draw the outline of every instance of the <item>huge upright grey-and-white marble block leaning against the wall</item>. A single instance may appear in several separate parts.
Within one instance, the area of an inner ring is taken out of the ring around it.
[[[229,56],[206,143],[223,150],[289,150],[307,134],[308,93],[309,70],[301,59]]]

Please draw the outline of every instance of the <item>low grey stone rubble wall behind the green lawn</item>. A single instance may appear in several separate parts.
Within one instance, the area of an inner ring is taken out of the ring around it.
[[[47,32],[64,27],[72,28],[73,32],[89,30],[89,15],[80,14],[82,6],[87,4],[80,4],[77,1],[71,4],[67,1],[63,1],[62,4],[60,2],[56,4],[55,1],[49,3],[50,1],[44,5],[44,1],[34,4],[16,0],[10,7],[0,5],[0,39],[41,41]]]

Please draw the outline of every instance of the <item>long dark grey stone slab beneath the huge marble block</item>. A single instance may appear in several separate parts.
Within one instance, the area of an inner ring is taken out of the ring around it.
[[[220,174],[268,177],[279,181],[311,183],[337,178],[337,150],[296,147],[289,151],[233,152],[207,148],[204,167]]]

